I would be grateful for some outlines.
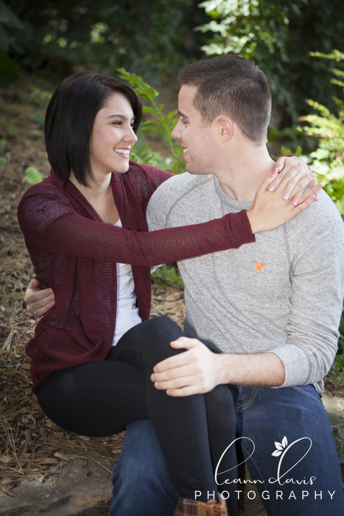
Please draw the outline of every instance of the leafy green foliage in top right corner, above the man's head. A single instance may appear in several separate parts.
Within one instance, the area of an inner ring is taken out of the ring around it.
[[[309,112],[307,96],[333,109],[335,83],[329,87],[329,71],[309,51],[315,50],[315,34],[319,50],[344,51],[342,0],[207,0],[200,5],[212,18],[198,27],[212,33],[202,50],[209,56],[234,53],[255,61],[268,77],[282,127]]]

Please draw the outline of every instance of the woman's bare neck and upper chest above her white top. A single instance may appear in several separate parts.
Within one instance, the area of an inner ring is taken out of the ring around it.
[[[94,174],[94,179],[95,182],[90,181],[89,186],[84,186],[76,180],[72,171],[69,176],[69,180],[88,200],[102,221],[107,224],[116,224],[120,216],[112,195],[111,173]]]

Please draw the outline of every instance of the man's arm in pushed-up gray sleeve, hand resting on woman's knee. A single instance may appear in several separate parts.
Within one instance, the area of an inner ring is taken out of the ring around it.
[[[179,339],[171,345],[187,351],[155,366],[158,388],[185,396],[219,383],[285,387],[319,382],[329,372],[342,311],[344,229],[332,201],[325,193],[321,197],[320,216],[304,212],[288,227],[292,291],[286,343],[261,354],[217,355],[196,339]]]

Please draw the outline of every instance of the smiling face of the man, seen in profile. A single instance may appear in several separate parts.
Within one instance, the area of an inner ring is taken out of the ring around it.
[[[214,172],[219,158],[219,142],[214,124],[204,126],[201,113],[193,106],[194,86],[183,85],[178,96],[178,114],[181,117],[172,131],[184,151],[186,170],[190,174]]]

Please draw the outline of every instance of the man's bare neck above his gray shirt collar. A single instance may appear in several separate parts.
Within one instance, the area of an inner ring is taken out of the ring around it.
[[[275,162],[266,146],[240,146],[231,150],[214,175],[228,197],[238,201],[253,201],[258,187],[274,169]]]

